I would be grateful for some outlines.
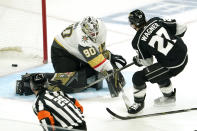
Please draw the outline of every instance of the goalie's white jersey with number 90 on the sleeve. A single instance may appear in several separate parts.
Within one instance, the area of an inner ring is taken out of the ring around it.
[[[104,23],[97,19],[98,34],[96,41],[93,41],[82,30],[82,22],[67,27],[61,34],[55,37],[55,41],[70,54],[88,63],[96,71],[112,70],[113,67],[108,59],[106,59],[102,52],[105,49],[106,41],[106,27]]]

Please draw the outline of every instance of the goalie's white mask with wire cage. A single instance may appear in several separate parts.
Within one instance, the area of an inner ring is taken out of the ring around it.
[[[96,42],[99,33],[99,25],[96,18],[92,16],[85,17],[81,22],[81,28],[93,42]]]

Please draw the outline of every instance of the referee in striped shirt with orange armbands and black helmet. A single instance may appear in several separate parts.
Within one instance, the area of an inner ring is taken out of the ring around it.
[[[87,130],[83,107],[78,100],[62,91],[47,91],[47,86],[44,74],[30,75],[30,87],[36,95],[33,111],[44,131]]]

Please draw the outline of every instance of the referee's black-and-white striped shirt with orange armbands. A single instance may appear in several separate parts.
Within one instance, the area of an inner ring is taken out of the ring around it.
[[[76,101],[61,91],[40,91],[33,103],[33,110],[46,131],[54,130],[55,126],[72,129],[85,123],[82,111],[75,105]]]

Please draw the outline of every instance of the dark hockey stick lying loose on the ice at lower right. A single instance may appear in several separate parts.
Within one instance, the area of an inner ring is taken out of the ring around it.
[[[130,120],[130,119],[147,118],[147,117],[160,116],[160,115],[169,115],[169,114],[175,114],[175,113],[183,113],[183,112],[197,110],[197,107],[174,110],[174,111],[166,111],[166,112],[160,112],[160,113],[153,113],[153,114],[146,114],[146,115],[139,115],[139,116],[121,116],[121,115],[118,115],[118,114],[114,113],[109,108],[106,108],[106,110],[113,117],[116,117],[116,118],[121,119],[121,120]]]

